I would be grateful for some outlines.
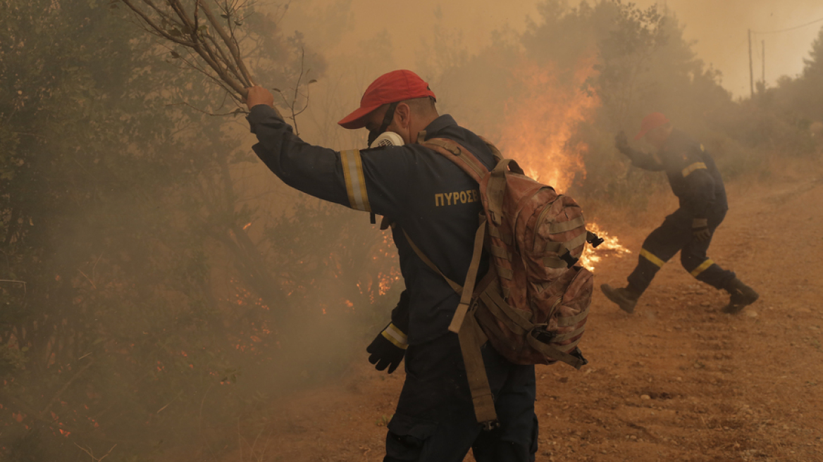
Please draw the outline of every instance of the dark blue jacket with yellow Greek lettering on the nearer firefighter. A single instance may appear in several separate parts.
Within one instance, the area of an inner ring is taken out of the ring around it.
[[[420,145],[367,150],[311,146],[265,105],[249,113],[258,157],[287,185],[356,210],[388,216],[449,279],[463,284],[482,210],[477,182],[456,164]],[[486,168],[494,155],[472,132],[443,115],[426,127],[426,139],[457,141]],[[409,293],[409,344],[443,335],[458,295],[412,251],[402,232],[393,233]],[[485,273],[484,266],[480,275]]]

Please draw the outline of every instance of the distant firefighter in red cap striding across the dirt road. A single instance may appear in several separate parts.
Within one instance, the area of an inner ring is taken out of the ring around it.
[[[646,238],[637,266],[629,275],[628,286],[612,289],[603,284],[603,293],[623,311],[634,312],[638,298],[649,287],[654,275],[680,251],[686,271],[697,280],[731,294],[723,312],[737,313],[755,303],[758,295],[751,287],[706,256],[714,230],[723,222],[728,210],[723,178],[714,159],[698,141],[674,129],[662,113],[651,113],[643,119],[635,141],[644,137],[657,148],[656,154],[630,148],[622,132],[616,137],[615,146],[636,167],[666,172],[672,192],[680,199],[680,208],[668,215]]]

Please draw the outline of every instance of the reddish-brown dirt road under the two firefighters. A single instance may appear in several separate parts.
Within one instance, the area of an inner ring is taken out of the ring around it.
[[[740,182],[730,201],[709,255],[760,301],[719,312],[728,296],[677,257],[633,315],[597,290],[581,344],[589,365],[537,367],[537,460],[823,460],[823,182]],[[604,258],[598,286],[625,284],[666,211],[646,214],[648,226],[612,224],[635,253]],[[226,460],[382,460],[402,370],[368,366],[364,353],[341,384],[288,397],[265,443]]]

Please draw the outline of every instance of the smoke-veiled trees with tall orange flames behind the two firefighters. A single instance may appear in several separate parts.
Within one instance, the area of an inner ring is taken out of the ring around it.
[[[730,178],[766,172],[775,155],[813,152],[802,132],[809,123],[775,109],[779,91],[734,101],[720,72],[696,58],[682,26],[656,6],[551,0],[540,12],[523,35],[445,70],[435,86],[465,125],[499,141],[524,169],[561,191],[644,209],[649,196],[667,188],[665,179],[631,167],[613,139],[621,130],[636,132],[653,111],[704,141]],[[815,47],[818,62],[823,45]],[[792,85],[781,86],[788,95]],[[486,95],[484,104],[472,102],[478,94]]]

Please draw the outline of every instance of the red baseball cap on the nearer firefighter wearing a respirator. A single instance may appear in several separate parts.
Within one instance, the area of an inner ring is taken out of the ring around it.
[[[429,84],[412,71],[399,70],[388,72],[371,82],[360,99],[360,108],[347,115],[339,123],[344,128],[365,127],[366,117],[374,109],[384,104],[397,103],[407,99],[435,98],[435,93],[429,90]]]

